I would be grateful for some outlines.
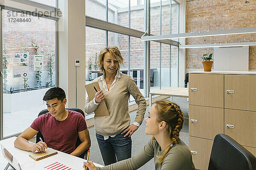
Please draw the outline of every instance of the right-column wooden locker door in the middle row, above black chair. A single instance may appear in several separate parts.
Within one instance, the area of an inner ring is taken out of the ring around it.
[[[241,145],[256,147],[256,112],[225,109],[224,120],[225,134]]]

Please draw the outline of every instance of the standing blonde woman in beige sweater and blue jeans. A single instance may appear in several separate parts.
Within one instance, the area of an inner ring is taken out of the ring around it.
[[[123,57],[117,47],[103,48],[97,61],[102,76],[93,80],[99,82],[99,91],[93,100],[87,98],[84,110],[92,113],[105,100],[109,116],[95,117],[96,139],[105,165],[131,158],[131,135],[144,119],[146,101],[134,79],[119,72]],[[128,99],[130,94],[138,104],[136,118],[130,125]]]

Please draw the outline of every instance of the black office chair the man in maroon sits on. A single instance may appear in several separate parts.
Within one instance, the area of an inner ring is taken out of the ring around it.
[[[66,108],[66,109],[71,110],[71,111],[76,111],[76,112],[78,112],[78,113],[81,113],[81,114],[84,116],[84,112],[83,112],[81,109],[79,109],[79,108]],[[48,112],[49,112],[49,111],[48,111],[47,109],[45,109],[45,110],[41,111],[41,112],[38,114],[38,116],[41,116],[42,114],[45,114],[45,113],[48,113]],[[36,143],[40,141],[40,139],[39,139],[40,137],[41,137],[41,139],[44,141],[44,136],[43,136],[42,133],[39,131],[38,134],[36,134]],[[76,140],[76,147],[78,147],[79,144],[81,144],[81,143],[82,143],[82,142],[81,142],[81,140],[79,139],[79,136],[78,136],[78,137],[77,137],[77,140]],[[85,153],[87,153],[87,150],[86,150],[84,153],[82,153],[81,155],[79,155],[78,157],[84,159]]]

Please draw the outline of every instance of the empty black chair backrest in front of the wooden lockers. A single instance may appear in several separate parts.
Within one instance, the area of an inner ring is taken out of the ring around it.
[[[218,134],[212,144],[208,170],[256,170],[256,158],[230,136]]]

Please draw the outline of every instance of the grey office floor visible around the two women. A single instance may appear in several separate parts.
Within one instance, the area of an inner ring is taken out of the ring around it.
[[[180,97],[173,97],[173,102],[177,103],[177,105],[180,105],[181,110],[184,113],[184,117],[188,117],[188,102],[186,98],[180,98]],[[147,111],[145,113],[145,117],[148,116],[149,106],[147,107]],[[135,119],[136,111],[132,111],[130,113],[131,121]],[[145,121],[143,121],[143,124],[139,127],[139,129],[132,135],[132,155],[136,155],[140,150],[143,149],[145,144],[148,143],[148,141],[151,139],[151,135],[146,135],[145,132]],[[98,164],[104,164],[98,143],[95,137],[95,129],[94,127],[89,128],[90,131],[90,138],[91,138],[91,147],[90,147],[90,160],[94,161]],[[189,144],[189,128],[188,128],[188,119],[184,119],[184,125],[183,129],[180,132],[180,139],[185,142],[188,146]],[[154,161],[151,159],[143,165],[143,167],[140,167],[139,170],[154,170]]]

